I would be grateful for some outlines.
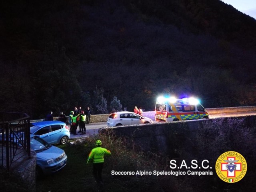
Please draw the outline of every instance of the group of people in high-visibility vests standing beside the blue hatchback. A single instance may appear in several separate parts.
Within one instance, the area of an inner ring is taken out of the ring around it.
[[[81,107],[79,107],[78,109],[75,107],[74,111],[70,111],[70,133],[72,133],[73,135],[77,135],[76,130],[79,126],[78,133],[80,133],[81,135],[86,134],[85,124],[89,124],[91,114],[92,112],[89,107],[87,107],[85,112],[82,110]]]

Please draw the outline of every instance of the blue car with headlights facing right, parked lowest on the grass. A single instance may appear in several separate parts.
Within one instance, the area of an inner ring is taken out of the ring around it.
[[[67,163],[68,157],[64,150],[48,144],[33,134],[30,134],[30,148],[36,152],[37,178],[60,170]]]

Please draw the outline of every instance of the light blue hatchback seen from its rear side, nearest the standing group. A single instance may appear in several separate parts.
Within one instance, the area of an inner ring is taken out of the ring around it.
[[[30,133],[38,135],[49,144],[66,144],[70,132],[66,123],[61,121],[42,121],[31,124]]]

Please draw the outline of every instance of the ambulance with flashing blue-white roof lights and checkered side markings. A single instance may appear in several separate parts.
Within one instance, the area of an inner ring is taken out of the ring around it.
[[[209,113],[195,98],[176,99],[161,96],[156,100],[156,121],[172,122],[208,118]]]

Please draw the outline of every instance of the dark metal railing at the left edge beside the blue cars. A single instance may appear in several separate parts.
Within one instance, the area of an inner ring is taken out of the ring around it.
[[[30,117],[0,112],[0,166],[8,170],[30,158]]]

